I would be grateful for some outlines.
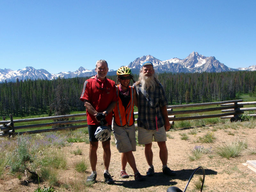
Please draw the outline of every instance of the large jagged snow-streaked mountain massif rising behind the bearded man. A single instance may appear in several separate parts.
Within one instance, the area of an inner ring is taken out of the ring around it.
[[[128,67],[133,69],[141,68],[141,65],[145,61],[153,63],[154,68],[157,72],[223,72],[223,71],[235,71],[237,69],[228,68],[220,61],[216,60],[215,57],[205,57],[199,55],[198,52],[192,52],[185,59],[173,58],[170,60],[161,61],[151,55],[143,56],[135,59],[131,62]]]

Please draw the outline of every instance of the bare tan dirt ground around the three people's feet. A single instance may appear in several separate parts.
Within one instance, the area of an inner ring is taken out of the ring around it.
[[[242,123],[241,123],[242,124]],[[256,155],[250,155],[249,149],[256,149],[256,133],[255,128],[249,129],[239,125],[237,130],[234,129],[217,129],[214,132],[214,136],[217,140],[214,143],[196,143],[196,138],[205,135],[208,131],[212,131],[213,126],[199,127],[198,132],[195,136],[189,134],[192,129],[181,129],[178,131],[169,131],[168,135],[173,139],[167,138],[166,144],[168,148],[168,166],[176,171],[175,177],[168,177],[162,173],[162,164],[159,159],[159,148],[156,142],[153,142],[152,149],[154,153],[153,164],[155,167],[155,175],[153,177],[146,177],[145,181],[137,182],[134,181],[133,172],[131,167],[127,164],[126,172],[130,175],[128,179],[120,178],[120,154],[118,153],[114,145],[114,137],[111,139],[111,161],[109,172],[113,175],[115,183],[113,185],[108,185],[104,183],[103,171],[103,159],[102,159],[102,146],[99,144],[98,148],[98,163],[97,163],[97,183],[93,184],[91,187],[81,187],[84,186],[84,181],[87,176],[91,173],[90,166],[88,167],[88,172],[78,173],[74,170],[74,162],[84,159],[89,162],[88,151],[89,144],[85,143],[73,143],[68,147],[64,147],[62,150],[67,154],[68,157],[68,169],[61,170],[59,174],[59,182],[61,187],[55,187],[57,191],[111,191],[111,192],[121,192],[121,191],[145,191],[145,192],[164,192],[169,186],[177,186],[182,191],[184,190],[188,179],[192,172],[198,167],[202,166],[205,170],[205,186],[203,191],[211,192],[252,192],[256,191],[256,173],[243,165],[247,160],[256,160]],[[230,132],[234,135],[229,134]],[[188,140],[181,140],[180,133],[187,133]],[[202,158],[196,161],[190,161],[188,155],[191,155],[191,150],[195,146],[204,146],[204,148],[216,148],[220,146],[221,142],[230,142],[234,140],[247,140],[248,148],[243,151],[241,156],[236,158],[230,158],[229,160],[216,155],[213,152],[213,157],[209,158],[206,154]],[[83,154],[81,156],[74,155],[71,152],[77,148],[82,149]],[[133,153],[137,168],[142,175],[146,175],[148,165],[144,156],[144,147],[137,146],[137,151]],[[202,171],[198,170],[191,182],[188,185],[186,191],[200,191],[195,189],[195,182],[198,180],[198,175],[202,175]],[[40,183],[41,186],[47,186],[47,183]],[[18,180],[17,178],[10,178],[5,180],[0,180],[0,191],[1,192],[34,192],[37,188],[38,183],[27,181],[24,178]],[[63,186],[66,186],[63,187]],[[72,186],[72,187],[71,187]]]

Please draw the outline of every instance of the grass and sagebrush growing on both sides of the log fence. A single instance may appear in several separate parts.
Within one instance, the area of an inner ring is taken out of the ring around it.
[[[255,100],[255,98],[251,98],[248,95],[244,95],[242,99],[244,101]],[[247,105],[246,107],[254,106]],[[191,109],[192,108],[189,108],[189,110]],[[181,110],[186,109],[182,108]],[[137,111],[137,108],[135,108],[135,111]],[[71,114],[79,113],[85,113],[85,111],[71,112]],[[211,113],[212,112],[204,114]],[[219,112],[214,111],[214,114],[216,113]],[[192,116],[193,114],[190,115]],[[46,115],[27,116],[23,118],[44,116]],[[85,118],[86,116],[76,117],[75,119]],[[16,117],[14,119],[20,118]],[[6,120],[8,120],[8,118],[6,118]],[[179,140],[188,141],[193,138],[191,142],[195,143],[196,146],[191,149],[187,156],[187,159],[191,162],[198,161],[204,156],[207,156],[209,159],[219,156],[229,160],[230,158],[242,156],[244,151],[255,155],[256,148],[248,148],[246,138],[243,140],[218,143],[213,147],[204,147],[203,145],[215,143],[215,141],[219,139],[216,137],[215,132],[220,130],[229,136],[235,136],[238,134],[238,129],[254,129],[256,127],[256,120],[254,120],[254,118],[247,120],[246,122],[239,121],[234,123],[230,123],[229,119],[220,118],[178,121],[175,122],[172,129],[167,132],[167,137],[172,140],[174,139],[174,133],[177,133],[175,138],[179,137]],[[49,123],[52,122],[52,120],[37,121],[36,123],[39,122],[40,124]],[[35,122],[15,123],[15,126],[27,124],[35,124]],[[212,125],[212,128],[209,129],[208,125]],[[41,127],[40,129],[47,128],[51,127]],[[22,132],[28,130],[17,131]],[[198,136],[199,133],[201,136]],[[113,140],[111,141],[111,145],[115,146],[115,142]],[[60,173],[65,170],[71,169],[75,172],[75,175],[82,175],[82,177],[88,174],[90,164],[85,159],[79,158],[79,161],[72,162],[72,167],[70,167],[70,163],[68,163],[68,158],[71,154],[74,156],[87,156],[87,154],[83,154],[79,147],[69,150],[68,152],[65,151],[66,148],[72,146],[74,143],[89,143],[87,128],[0,138],[0,179],[8,180],[17,178],[22,182],[24,180],[30,180],[38,185],[37,188],[34,188],[32,191],[90,191],[92,183],[86,183],[86,179],[82,181],[79,179],[72,181],[66,180],[65,182],[60,181]],[[42,187],[40,183],[43,183],[44,187]]]

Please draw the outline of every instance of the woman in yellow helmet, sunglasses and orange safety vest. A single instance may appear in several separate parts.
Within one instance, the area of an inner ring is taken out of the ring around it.
[[[116,71],[117,85],[116,94],[118,101],[114,108],[113,131],[116,140],[116,148],[121,153],[121,177],[128,178],[125,171],[127,162],[132,167],[134,179],[143,180],[137,169],[135,158],[132,151],[136,151],[135,125],[133,114],[133,87],[129,86],[130,80],[133,80],[131,69],[120,67]],[[133,82],[135,82],[133,80]]]

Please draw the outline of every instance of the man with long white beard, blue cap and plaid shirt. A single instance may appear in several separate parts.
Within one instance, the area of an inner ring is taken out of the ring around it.
[[[153,137],[160,149],[163,173],[174,176],[175,172],[167,167],[168,151],[165,143],[166,131],[171,127],[166,107],[168,102],[151,62],[142,64],[139,81],[134,84],[134,104],[138,107],[138,142],[145,145],[147,176],[153,176],[155,172],[151,149]]]

